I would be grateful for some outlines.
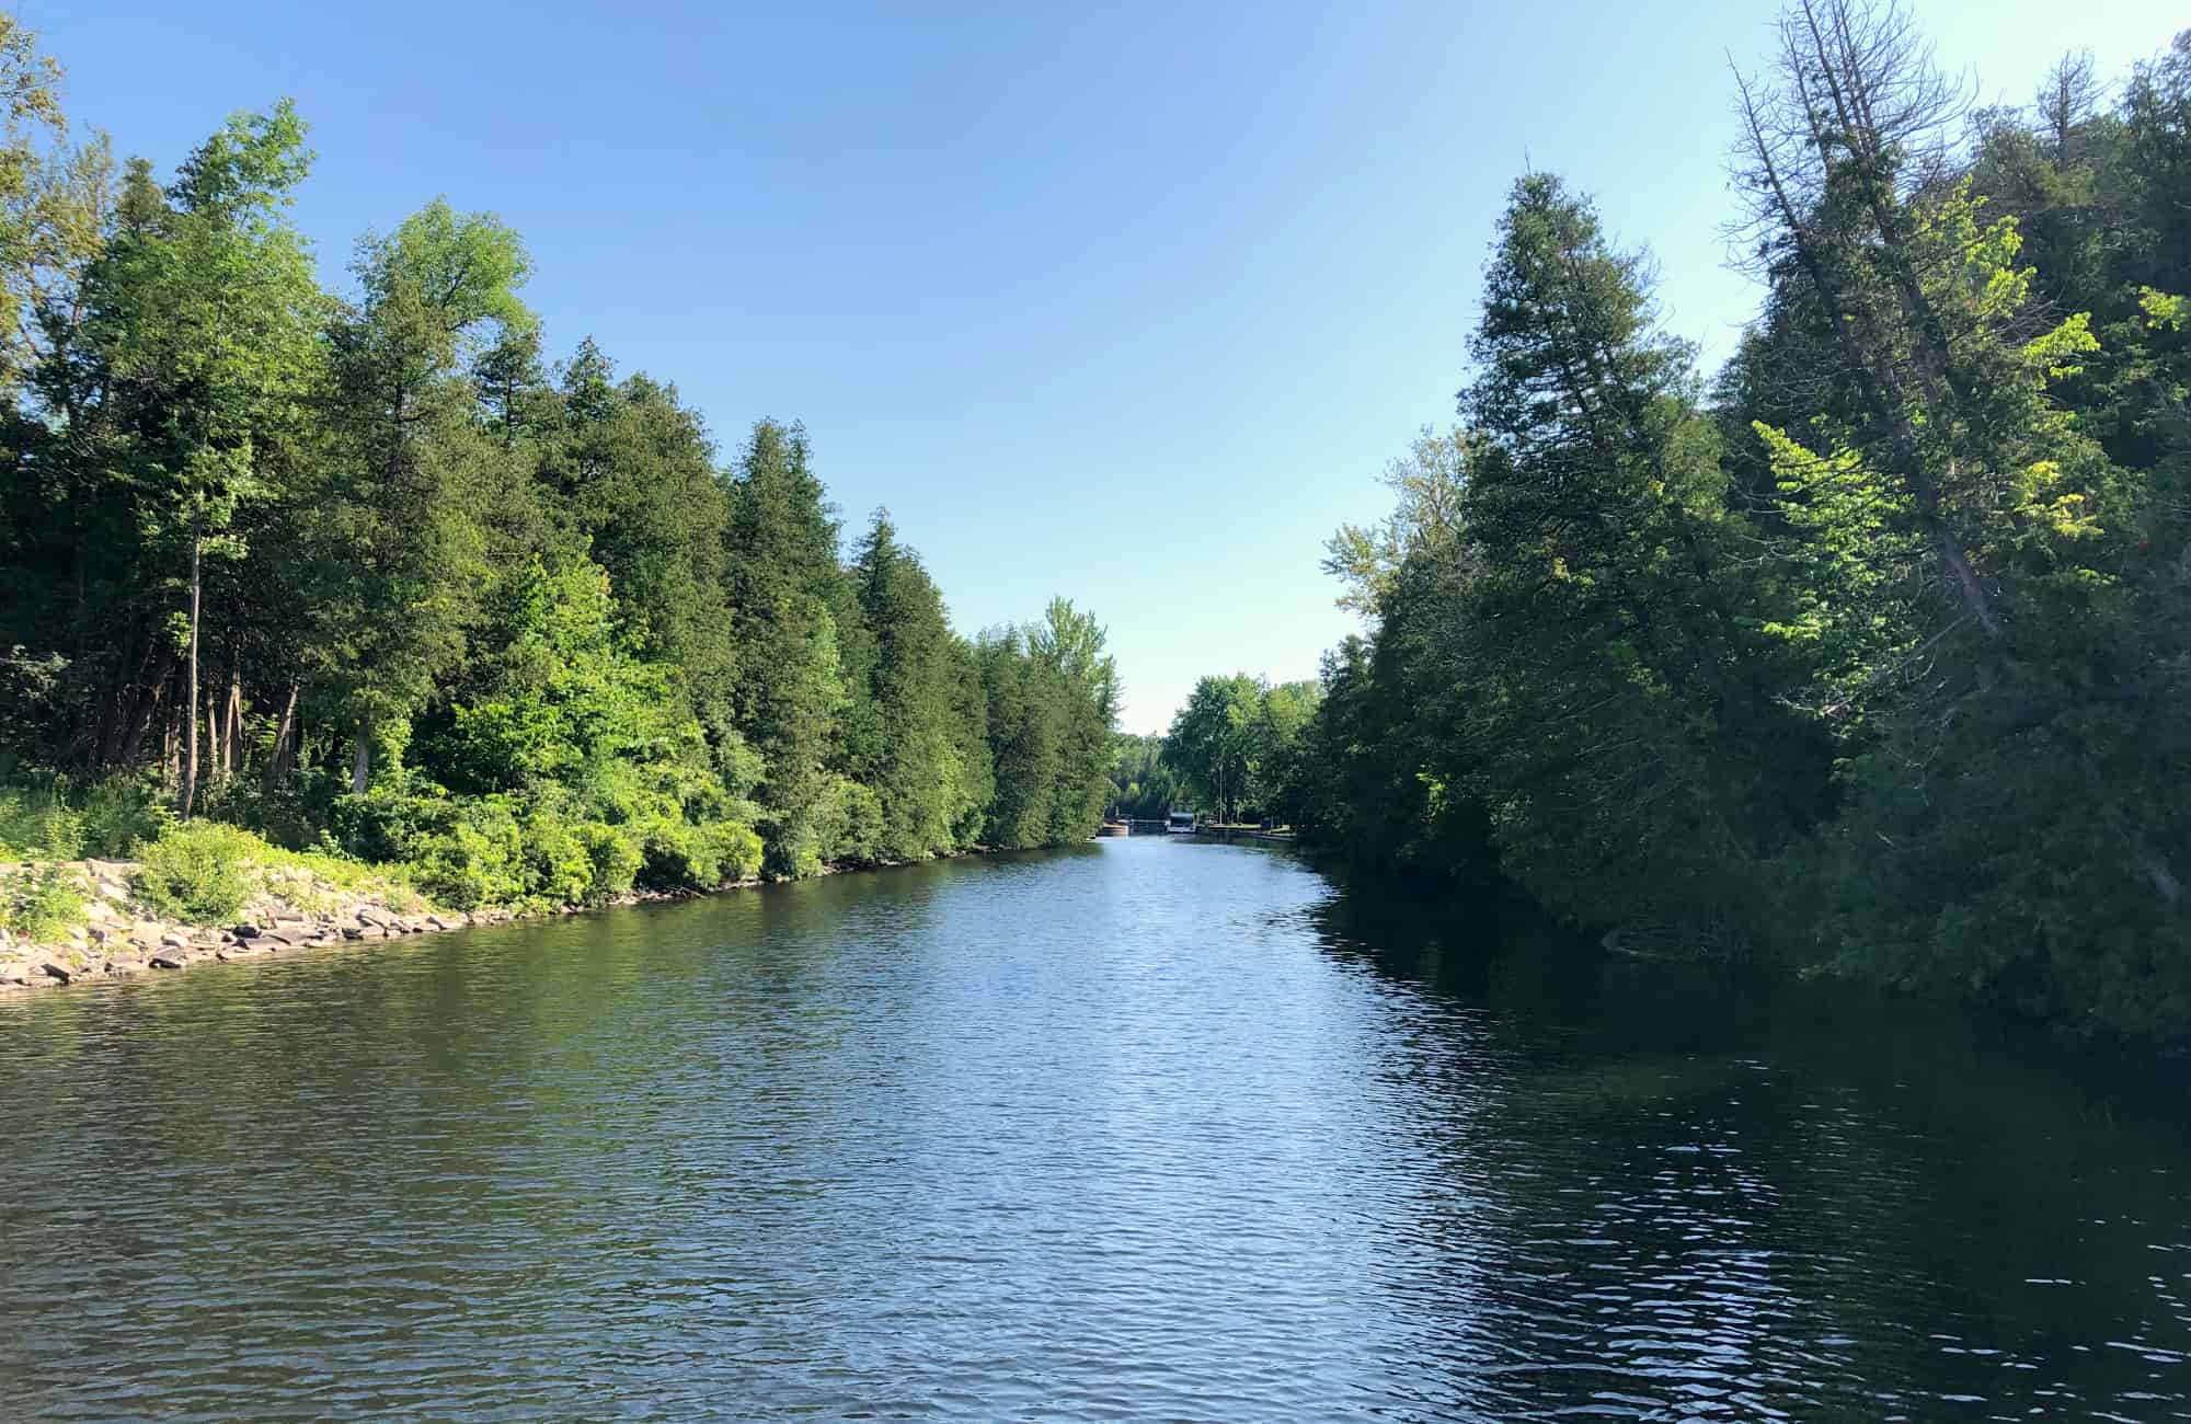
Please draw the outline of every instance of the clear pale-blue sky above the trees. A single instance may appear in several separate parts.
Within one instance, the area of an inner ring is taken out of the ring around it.
[[[1312,677],[1323,537],[1444,425],[1492,219],[1536,164],[1659,259],[1716,359],[1727,53],[1764,0],[982,4],[18,0],[74,120],[162,169],[294,96],[329,278],[421,202],[526,234],[554,355],[592,333],[732,449],[802,418],[846,521],[887,504],[964,631],[1067,594],[1124,725],[1198,673]],[[929,11],[929,13],[922,13]],[[2024,99],[2117,74],[2158,0],[1917,0]]]

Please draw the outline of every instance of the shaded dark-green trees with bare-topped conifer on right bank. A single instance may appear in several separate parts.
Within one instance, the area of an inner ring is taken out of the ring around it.
[[[1459,425],[1332,541],[1304,832],[1630,940],[2191,1030],[2191,33],[1970,110],[1908,15],[1737,77],[1705,381],[1514,184]]]

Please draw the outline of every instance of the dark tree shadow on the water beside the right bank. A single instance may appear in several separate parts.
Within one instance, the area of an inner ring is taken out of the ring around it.
[[[1350,878],[1306,918],[1326,955],[1496,1045],[1470,1063],[1499,1063],[1499,1106],[1455,1113],[1475,1119],[1477,1181],[1521,1144],[1477,1214],[1527,1222],[1496,1249],[1505,1268],[1549,1268],[1562,1231],[1610,1249],[1617,1321],[1637,1319],[1641,1286],[1661,1317],[1729,1328],[1727,1358],[1746,1365],[1718,1382],[1746,1385],[1722,1406],[1937,1417],[2009,1398],[2033,1417],[2191,1417],[2176,1073],[1849,986],[1606,955],[1512,900]],[[1827,1345],[1816,1378],[1775,1385],[1748,1325]],[[1573,1328],[1604,1360],[1588,1398],[1680,1354]]]

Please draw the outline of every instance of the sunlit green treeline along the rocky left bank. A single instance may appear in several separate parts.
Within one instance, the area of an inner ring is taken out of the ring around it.
[[[1117,679],[1069,602],[977,640],[806,434],[550,368],[532,269],[427,204],[324,291],[289,103],[167,182],[70,142],[0,18],[0,756],[408,863],[456,905],[1093,832]]]

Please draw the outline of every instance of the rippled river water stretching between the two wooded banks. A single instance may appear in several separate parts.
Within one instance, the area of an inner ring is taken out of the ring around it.
[[[2180,1420],[2191,1133],[1161,839],[0,1003],[0,1417]]]

